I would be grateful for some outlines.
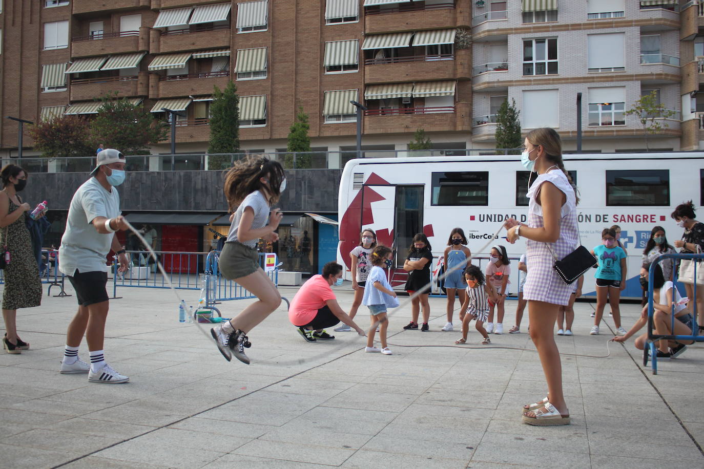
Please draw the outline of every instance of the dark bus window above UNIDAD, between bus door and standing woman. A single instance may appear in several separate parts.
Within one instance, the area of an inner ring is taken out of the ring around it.
[[[432,205],[489,205],[489,172],[434,172]]]

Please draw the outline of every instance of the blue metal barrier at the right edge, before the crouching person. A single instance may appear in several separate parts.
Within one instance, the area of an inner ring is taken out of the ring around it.
[[[648,364],[648,359],[651,361],[651,368],[653,370],[653,375],[658,374],[658,347],[655,347],[655,341],[658,340],[693,340],[695,342],[704,342],[704,335],[698,335],[698,324],[697,324],[697,284],[696,281],[693,285],[693,298],[689,299],[689,304],[693,304],[693,316],[692,321],[692,333],[691,335],[659,335],[655,334],[653,331],[653,315],[655,310],[653,309],[653,276],[655,273],[655,265],[660,261],[665,259],[693,259],[702,260],[704,259],[704,254],[663,254],[658,256],[650,263],[650,269],[648,270],[648,340],[646,341],[645,347],[643,347],[643,366]],[[697,277],[697,269],[700,262],[694,263],[694,278]],[[677,275],[679,274],[679,269],[674,269],[672,286],[677,288]],[[704,288],[704,285],[702,285]],[[672,298],[674,300],[674,293]],[[662,298],[660,298],[660,304],[662,304]],[[674,304],[672,305],[672,311],[674,312]],[[675,319],[674,314],[671,314],[670,330],[674,330],[674,321],[679,321]],[[650,354],[650,355],[648,355]]]

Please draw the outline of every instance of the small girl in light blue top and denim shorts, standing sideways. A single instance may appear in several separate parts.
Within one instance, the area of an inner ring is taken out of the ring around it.
[[[367,276],[369,288],[364,289],[363,303],[369,308],[372,327],[367,333],[367,347],[365,352],[382,352],[384,355],[391,355],[391,349],[386,344],[386,328],[389,327],[389,320],[386,317],[387,308],[395,308],[398,306],[396,293],[391,288],[389,281],[386,279],[386,273],[382,266],[386,260],[391,260],[391,249],[386,246],[377,246],[372,251],[370,261],[372,269]],[[379,340],[382,342],[382,348],[374,346],[375,330],[379,328]]]

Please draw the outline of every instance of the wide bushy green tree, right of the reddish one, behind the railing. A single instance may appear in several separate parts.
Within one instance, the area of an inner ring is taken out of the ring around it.
[[[168,126],[160,122],[142,104],[132,104],[117,93],[104,94],[98,115],[90,124],[96,143],[116,148],[125,155],[149,154],[149,146],[166,139]]]

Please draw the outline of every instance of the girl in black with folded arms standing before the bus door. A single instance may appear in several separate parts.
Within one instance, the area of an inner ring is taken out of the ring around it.
[[[406,291],[408,295],[413,295],[416,291],[422,291],[420,295],[411,300],[411,317],[412,320],[408,326],[403,326],[404,329],[418,328],[418,314],[420,313],[420,305],[423,307],[423,325],[420,328],[422,332],[428,330],[428,320],[430,319],[430,303],[428,302],[428,292],[430,290],[430,264],[433,260],[432,248],[428,243],[428,238],[423,233],[417,233],[413,236],[413,243],[410,243],[410,252],[403,263],[403,270],[408,272],[408,281],[406,281]]]

